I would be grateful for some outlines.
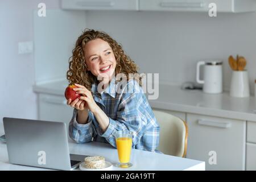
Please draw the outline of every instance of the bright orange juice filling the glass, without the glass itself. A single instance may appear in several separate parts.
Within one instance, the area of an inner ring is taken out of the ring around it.
[[[131,155],[131,138],[121,137],[116,139],[119,162],[129,163]]]

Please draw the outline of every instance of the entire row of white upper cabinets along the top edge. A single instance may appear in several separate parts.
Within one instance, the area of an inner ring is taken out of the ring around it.
[[[214,3],[214,4],[211,4]],[[242,13],[256,10],[255,0],[61,0],[69,10],[203,11]]]

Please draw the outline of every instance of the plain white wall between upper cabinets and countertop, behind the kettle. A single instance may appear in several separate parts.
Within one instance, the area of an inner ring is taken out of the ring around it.
[[[229,89],[228,56],[247,59],[250,88],[256,79],[256,13],[88,11],[88,28],[108,32],[123,45],[141,72],[160,73],[161,81],[196,81],[200,60],[224,61],[224,88]]]

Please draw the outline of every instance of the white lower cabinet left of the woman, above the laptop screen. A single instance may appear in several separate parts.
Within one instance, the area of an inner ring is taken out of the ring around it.
[[[45,121],[64,122],[67,126],[71,121],[73,108],[67,105],[64,96],[39,94],[39,119]]]

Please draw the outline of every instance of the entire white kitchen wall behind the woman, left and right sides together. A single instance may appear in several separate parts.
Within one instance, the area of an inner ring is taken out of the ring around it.
[[[45,17],[37,14],[42,2]],[[255,12],[209,17],[208,12],[189,11],[81,11],[63,10],[59,0],[1,0],[0,118],[37,117],[32,85],[65,79],[68,58],[84,28],[107,32],[122,44],[140,72],[160,73],[160,81],[174,84],[195,81],[197,61],[218,59],[224,61],[224,89],[228,90],[228,56],[243,55],[253,93],[255,18]],[[22,42],[31,42],[32,51],[19,53]]]

